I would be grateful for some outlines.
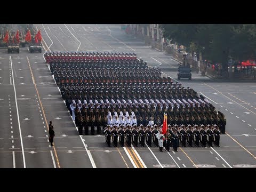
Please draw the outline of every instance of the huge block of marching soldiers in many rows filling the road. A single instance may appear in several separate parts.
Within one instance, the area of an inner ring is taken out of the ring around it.
[[[209,141],[212,146],[213,141],[218,144],[213,130],[218,127],[225,133],[225,116],[203,95],[163,77],[159,68],[148,67],[134,53],[46,52],[44,57],[79,134],[83,129],[89,134],[90,127],[91,134],[97,129],[97,134],[106,135],[108,146],[111,138],[114,146],[118,140],[121,146],[124,141],[138,146],[138,140],[142,146],[151,146],[158,140],[155,135],[164,113],[170,124],[170,135],[163,135],[170,142],[164,141],[164,145],[172,145],[177,134],[182,146],[186,142],[199,146],[199,141],[203,146]],[[197,127],[199,134],[194,134]]]

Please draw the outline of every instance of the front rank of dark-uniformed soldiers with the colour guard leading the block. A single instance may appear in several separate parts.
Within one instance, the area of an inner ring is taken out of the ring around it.
[[[126,142],[127,146],[138,147],[138,145],[145,147],[148,145],[151,147],[159,146],[159,150],[163,151],[165,147],[166,151],[170,151],[170,147],[173,147],[174,151],[177,151],[178,147],[199,147],[199,146],[210,146],[213,145],[219,147],[220,145],[220,134],[221,131],[218,125],[214,124],[213,126],[208,124],[207,126],[202,125],[181,125],[174,126],[168,125],[167,132],[162,134],[162,126],[156,125],[153,126],[148,124],[147,126],[140,125],[126,125],[117,126],[116,124],[111,127],[107,125],[103,131],[106,135],[106,143],[108,147],[111,147],[113,143],[114,147],[118,147],[118,142],[121,147],[124,147]],[[112,142],[111,142],[112,141]]]

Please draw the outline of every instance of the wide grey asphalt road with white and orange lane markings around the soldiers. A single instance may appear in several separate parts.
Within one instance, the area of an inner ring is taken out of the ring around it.
[[[118,25],[36,26],[45,49],[135,52],[177,81],[177,61],[126,35]],[[161,153],[147,146],[108,148],[102,135],[79,136],[42,54],[30,54],[27,47],[20,54],[1,49],[0,77],[0,167],[256,167],[255,83],[216,82],[196,73],[191,81],[180,80],[226,115],[227,133],[221,135],[220,147]],[[47,142],[50,120],[53,147]]]

